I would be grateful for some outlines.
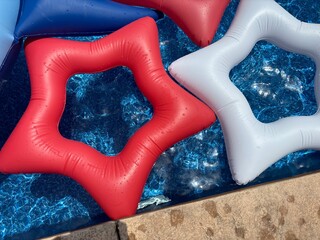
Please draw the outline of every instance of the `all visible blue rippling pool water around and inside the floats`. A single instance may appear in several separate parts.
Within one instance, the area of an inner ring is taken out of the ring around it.
[[[215,41],[221,38],[239,1],[233,0]],[[278,0],[297,18],[320,22],[320,2]],[[198,48],[173,22],[158,21],[164,66]],[[92,40],[91,38],[78,38]],[[230,77],[245,94],[255,116],[271,122],[291,115],[316,111],[313,92],[315,65],[307,57],[259,42],[234,68]],[[30,86],[23,53],[8,79],[0,80],[0,147],[25,110]],[[68,83],[67,106],[60,131],[105,154],[116,154],[127,139],[152,116],[152,108],[137,89],[127,68],[77,75]],[[301,151],[289,154],[250,185],[290,177],[320,168],[320,154]],[[181,141],[163,153],[145,186],[142,200],[164,195],[162,206],[238,189],[229,171],[219,122]],[[107,193],[106,193],[107,194]],[[150,206],[144,210],[155,209]],[[0,238],[33,239],[90,226],[108,218],[93,199],[73,180],[49,174],[0,174]]]

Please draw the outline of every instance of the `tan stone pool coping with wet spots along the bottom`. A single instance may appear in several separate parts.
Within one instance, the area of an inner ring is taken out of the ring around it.
[[[253,186],[46,240],[318,239],[320,172]]]

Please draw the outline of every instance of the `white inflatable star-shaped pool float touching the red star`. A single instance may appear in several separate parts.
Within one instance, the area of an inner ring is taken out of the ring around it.
[[[218,42],[173,62],[171,75],[217,114],[233,179],[246,184],[283,156],[320,149],[319,110],[272,123],[257,120],[242,92],[231,82],[231,69],[266,40],[311,57],[319,105],[320,25],[301,22],[273,0],[242,0],[226,35]],[[319,108],[319,107],[318,107]]]

